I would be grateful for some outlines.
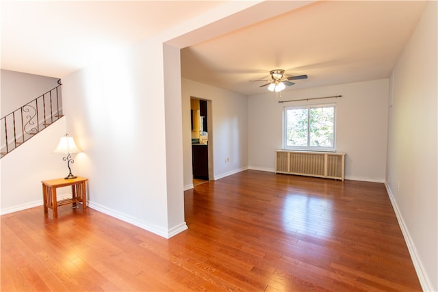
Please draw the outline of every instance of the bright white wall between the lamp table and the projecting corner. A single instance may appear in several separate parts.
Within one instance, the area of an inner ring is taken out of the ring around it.
[[[140,42],[63,80],[89,206],[168,237],[162,42]]]

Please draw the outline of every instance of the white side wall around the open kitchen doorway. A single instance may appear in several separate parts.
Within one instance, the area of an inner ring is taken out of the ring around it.
[[[190,97],[211,101],[209,147],[214,152],[214,179],[248,167],[248,97],[221,88],[182,79],[184,188],[192,185]],[[212,133],[212,135],[210,135]],[[212,143],[210,143],[213,141]],[[225,158],[229,157],[229,162]]]

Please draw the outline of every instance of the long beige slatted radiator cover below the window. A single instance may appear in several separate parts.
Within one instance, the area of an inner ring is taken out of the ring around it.
[[[344,181],[345,153],[276,150],[275,172]]]

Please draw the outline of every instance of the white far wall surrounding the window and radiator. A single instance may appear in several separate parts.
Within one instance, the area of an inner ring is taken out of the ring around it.
[[[311,78],[311,77],[310,77]],[[336,103],[336,150],[346,152],[347,179],[385,181],[388,79],[283,92],[282,101],[342,95],[313,101],[278,103],[272,92],[249,96],[249,167],[274,171],[282,147],[283,107]]]

